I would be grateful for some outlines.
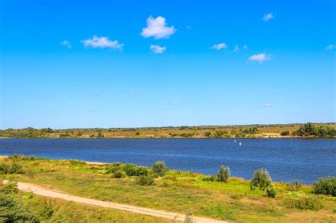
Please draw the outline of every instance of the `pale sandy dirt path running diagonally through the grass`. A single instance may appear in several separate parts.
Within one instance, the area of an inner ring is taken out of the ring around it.
[[[110,207],[118,210],[124,210],[128,212],[135,212],[138,214],[142,215],[152,215],[155,217],[164,217],[167,219],[175,219],[177,221],[184,221],[185,215],[181,215],[179,213],[174,213],[174,212],[166,212],[162,210],[152,210],[150,208],[145,208],[145,207],[136,207],[136,206],[131,206],[131,205],[122,205],[114,202],[106,202],[106,201],[101,201],[101,200],[94,200],[94,199],[89,199],[89,198],[81,198],[77,197],[74,195],[67,195],[65,193],[60,193],[60,192],[55,192],[52,190],[48,190],[47,188],[42,188],[38,185],[34,185],[31,183],[21,183],[18,182],[18,190],[21,190],[23,192],[31,192],[36,195],[40,195],[43,197],[48,197],[48,198],[57,198],[57,199],[62,199],[62,200],[69,200],[69,201],[74,201],[74,202],[79,202],[87,205],[96,205],[96,206],[101,206],[101,207]],[[200,223],[227,223],[225,221],[220,221],[220,220],[215,220],[215,219],[208,219],[205,217],[194,217],[193,219],[196,222]]]

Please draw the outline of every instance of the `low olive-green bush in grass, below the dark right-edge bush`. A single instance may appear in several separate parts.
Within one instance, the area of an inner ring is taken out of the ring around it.
[[[286,199],[284,205],[299,210],[320,210],[323,202],[319,198]]]

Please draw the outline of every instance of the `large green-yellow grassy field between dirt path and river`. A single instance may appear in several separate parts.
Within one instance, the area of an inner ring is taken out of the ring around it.
[[[155,185],[141,186],[139,176],[113,178],[113,173],[107,171],[112,165],[52,159],[16,159],[15,162],[25,172],[11,174],[16,181],[47,185],[85,198],[182,214],[190,210],[193,215],[235,222],[336,221],[336,198],[314,195],[310,185],[293,191],[287,183],[274,183],[277,197],[266,198],[262,190],[250,190],[250,182],[240,178],[220,183],[204,181],[205,176],[199,173],[168,171],[164,177],[155,178]],[[0,160],[0,164],[12,163],[11,159]],[[149,169],[148,175],[151,174]],[[318,208],[310,205],[313,200],[318,200]],[[305,205],[312,208],[304,208]]]

